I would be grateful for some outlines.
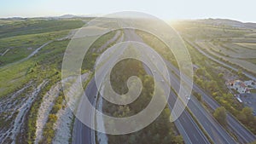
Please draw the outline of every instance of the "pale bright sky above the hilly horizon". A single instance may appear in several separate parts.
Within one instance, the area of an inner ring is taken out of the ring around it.
[[[224,18],[256,22],[255,0],[0,0],[0,17],[140,11],[161,19]]]

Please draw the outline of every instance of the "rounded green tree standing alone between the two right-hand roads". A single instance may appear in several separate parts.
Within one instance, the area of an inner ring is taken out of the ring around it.
[[[227,113],[224,107],[218,107],[213,112],[213,117],[216,118],[220,124],[227,124]]]

